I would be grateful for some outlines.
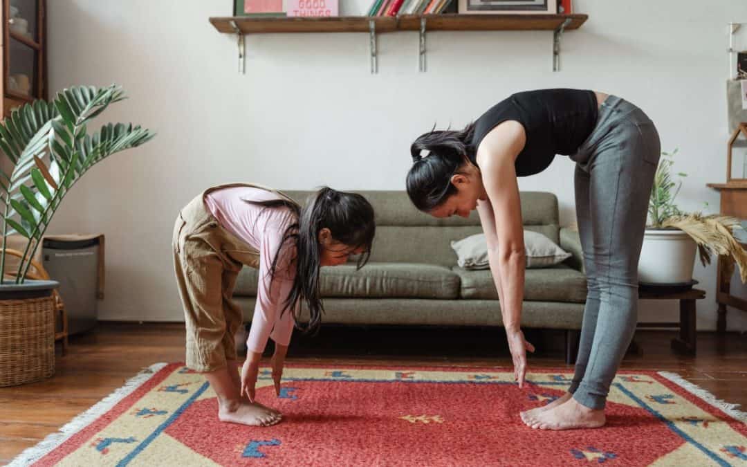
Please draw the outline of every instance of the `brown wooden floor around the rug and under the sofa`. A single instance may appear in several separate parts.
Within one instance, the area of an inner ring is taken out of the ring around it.
[[[716,397],[747,406],[747,337],[698,335],[698,356],[669,349],[674,333],[636,334],[642,349],[628,355],[624,368],[675,371]],[[563,360],[562,334],[527,333],[538,352],[530,368],[570,368]],[[0,464],[55,432],[122,386],[141,368],[184,359],[182,324],[101,324],[94,333],[71,338],[69,352],[58,356],[52,379],[0,388]],[[323,327],[314,338],[294,335],[289,362],[329,365],[474,365],[509,366],[505,335],[483,328]]]

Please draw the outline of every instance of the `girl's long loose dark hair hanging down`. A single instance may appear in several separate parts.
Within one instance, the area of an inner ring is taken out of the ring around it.
[[[363,248],[358,256],[357,267],[363,267],[371,256],[371,244],[376,233],[373,221],[373,206],[362,195],[336,191],[323,187],[306,200],[301,208],[285,199],[259,201],[265,208],[285,206],[296,214],[298,221],[283,232],[282,242],[275,253],[272,277],[275,277],[280,250],[288,244],[296,247],[296,275],[293,286],[285,298],[285,309],[292,309],[296,327],[304,332],[315,333],[321,324],[324,306],[319,288],[321,245],[319,232],[325,227],[332,238],[352,250]],[[300,323],[300,303],[309,307],[309,323]]]

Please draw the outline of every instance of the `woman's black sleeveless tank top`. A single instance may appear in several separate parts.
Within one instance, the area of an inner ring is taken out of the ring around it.
[[[592,133],[597,111],[597,99],[591,90],[545,89],[513,94],[475,121],[471,158],[476,157],[480,142],[495,126],[516,120],[527,134],[524,149],[516,158],[516,175],[542,172],[556,154],[577,151]],[[472,162],[477,165],[477,161]]]

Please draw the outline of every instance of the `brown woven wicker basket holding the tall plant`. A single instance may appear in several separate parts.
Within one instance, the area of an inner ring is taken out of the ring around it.
[[[55,374],[55,299],[0,300],[0,386]]]

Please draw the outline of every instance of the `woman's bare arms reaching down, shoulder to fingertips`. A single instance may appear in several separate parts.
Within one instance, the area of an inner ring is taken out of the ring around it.
[[[515,171],[515,159],[524,147],[524,128],[506,122],[495,127],[480,143],[477,163],[488,201],[478,209],[488,241],[490,269],[498,289],[503,327],[514,361],[515,377],[524,386],[526,352],[533,346],[521,333],[521,304],[524,300],[524,224]]]

